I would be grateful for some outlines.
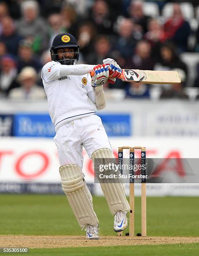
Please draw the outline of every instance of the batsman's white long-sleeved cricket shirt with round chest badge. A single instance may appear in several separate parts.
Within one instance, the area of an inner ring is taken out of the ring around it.
[[[48,98],[50,118],[55,131],[63,124],[96,113],[89,100],[93,65],[61,65],[50,61],[42,69],[43,86]]]

